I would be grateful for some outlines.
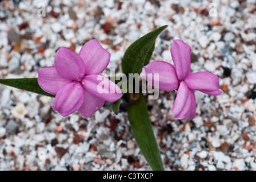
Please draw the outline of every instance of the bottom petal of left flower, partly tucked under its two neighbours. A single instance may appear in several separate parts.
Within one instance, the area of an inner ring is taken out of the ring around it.
[[[84,117],[89,118],[93,115],[97,110],[101,109],[101,107],[105,104],[105,100],[98,98],[87,90],[84,90],[85,99],[83,100],[82,106],[78,109],[78,112]]]

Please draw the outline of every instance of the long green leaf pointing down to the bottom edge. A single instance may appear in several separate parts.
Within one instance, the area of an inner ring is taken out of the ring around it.
[[[163,171],[162,159],[149,119],[149,113],[143,94],[137,102],[127,106],[131,130],[147,163],[154,171]]]

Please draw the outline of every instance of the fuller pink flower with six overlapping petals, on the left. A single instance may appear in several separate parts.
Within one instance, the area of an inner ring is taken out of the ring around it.
[[[63,117],[78,110],[83,117],[89,118],[105,101],[114,102],[122,97],[114,82],[99,75],[109,61],[110,53],[97,40],[87,42],[78,55],[61,47],[55,55],[55,66],[38,70],[38,84],[46,92],[56,95],[53,110]],[[100,82],[110,85],[104,86],[103,93],[98,92]],[[112,86],[114,93],[110,92]]]

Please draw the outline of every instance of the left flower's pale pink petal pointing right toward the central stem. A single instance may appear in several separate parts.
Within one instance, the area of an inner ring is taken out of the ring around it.
[[[123,95],[114,82],[101,75],[85,76],[82,84],[88,92],[108,102],[114,102]]]

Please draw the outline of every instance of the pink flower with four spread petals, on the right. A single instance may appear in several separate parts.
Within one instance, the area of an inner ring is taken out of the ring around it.
[[[141,73],[141,77],[146,80],[148,73],[152,73],[152,75],[159,73],[158,89],[178,89],[177,97],[171,110],[175,118],[183,120],[195,118],[196,103],[194,90],[199,90],[213,96],[218,96],[222,93],[218,89],[219,78],[217,75],[209,72],[190,74],[190,53],[191,48],[188,44],[182,40],[173,40],[171,56],[173,57],[175,67],[165,61],[153,61],[143,67],[145,73]],[[154,85],[154,77],[148,81]]]

